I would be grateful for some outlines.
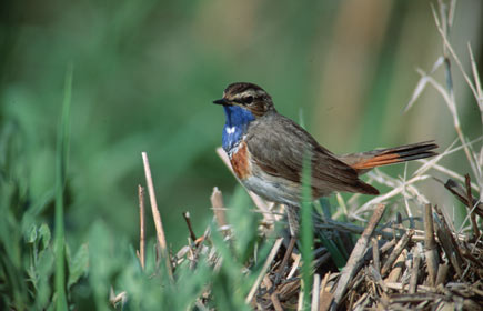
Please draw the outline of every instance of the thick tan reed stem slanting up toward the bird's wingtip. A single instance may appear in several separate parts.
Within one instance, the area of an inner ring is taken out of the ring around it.
[[[371,239],[371,235],[374,232],[375,227],[381,220],[384,210],[385,210],[384,204],[379,204],[375,208],[374,213],[372,214],[371,220],[368,223],[368,227],[365,228],[361,238],[359,238],[358,243],[354,247],[354,250],[352,251],[344,269],[341,272],[341,278],[339,279],[338,288],[335,289],[334,292],[334,301],[331,305],[331,310],[335,310],[338,308],[338,304],[341,302],[342,297],[348,289],[349,282],[358,272],[359,267],[361,265],[362,260],[364,258],[364,253],[368,250],[369,240]]]

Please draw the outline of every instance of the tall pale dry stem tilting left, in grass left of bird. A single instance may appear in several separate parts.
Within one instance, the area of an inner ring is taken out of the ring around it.
[[[168,251],[167,239],[165,239],[165,234],[164,234],[163,224],[161,221],[161,214],[159,212],[158,202],[155,200],[154,184],[152,182],[151,168],[149,167],[148,154],[145,152],[142,152],[141,154],[142,154],[142,161],[144,164],[145,182],[148,184],[148,193],[149,193],[149,198],[150,198],[150,202],[151,202],[151,211],[152,211],[152,218],[154,220],[158,242],[159,242],[159,245],[161,249],[161,254],[165,259],[168,274],[169,274],[170,279],[173,280],[171,259],[170,259],[170,254]]]

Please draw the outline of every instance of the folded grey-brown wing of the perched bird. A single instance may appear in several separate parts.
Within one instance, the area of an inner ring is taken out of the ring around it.
[[[312,189],[314,197],[333,191],[376,194],[378,190],[358,178],[358,172],[292,120],[264,116],[249,128],[246,144],[252,160],[266,173],[294,182],[301,181],[304,152],[312,152]]]

